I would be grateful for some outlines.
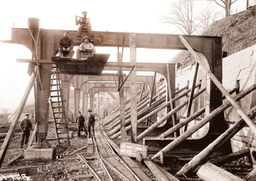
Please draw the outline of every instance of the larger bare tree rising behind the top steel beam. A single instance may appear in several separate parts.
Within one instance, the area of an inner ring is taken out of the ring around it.
[[[198,34],[198,26],[201,21],[193,16],[193,0],[178,0],[170,6],[168,16],[164,16],[163,23],[175,25],[184,34]]]

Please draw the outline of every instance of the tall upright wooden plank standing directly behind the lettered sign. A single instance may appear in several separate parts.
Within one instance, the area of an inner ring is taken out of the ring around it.
[[[131,83],[131,143],[137,143],[137,68],[136,34],[130,34],[130,66],[134,69],[130,75]]]

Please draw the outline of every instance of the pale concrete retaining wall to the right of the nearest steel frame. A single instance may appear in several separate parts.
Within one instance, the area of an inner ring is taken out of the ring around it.
[[[234,53],[223,59],[223,86],[231,89],[236,81],[240,80],[240,91],[251,86],[256,82],[256,45]],[[245,112],[248,112],[256,105],[256,91],[244,97],[239,101]],[[237,121],[239,114],[233,108],[227,109],[225,119],[228,121]],[[255,119],[253,119],[255,122]],[[229,126],[232,126],[230,124]],[[233,152],[244,148],[256,150],[256,134],[249,127],[244,127],[232,139],[231,146]],[[248,158],[246,158],[248,161]]]

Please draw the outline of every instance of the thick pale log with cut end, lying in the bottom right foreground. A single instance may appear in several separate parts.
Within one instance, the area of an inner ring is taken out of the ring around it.
[[[207,181],[216,181],[216,180],[221,180],[221,181],[231,181],[231,180],[236,180],[236,181],[244,181],[244,179],[239,178],[232,173],[221,169],[211,163],[205,163],[196,173],[199,178],[202,180],[207,180]]]

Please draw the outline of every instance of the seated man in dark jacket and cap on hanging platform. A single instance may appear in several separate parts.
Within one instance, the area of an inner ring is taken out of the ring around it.
[[[59,41],[59,52],[57,56],[63,57],[63,52],[68,53],[68,57],[72,58],[75,54],[74,43],[71,38],[68,37],[69,32],[67,30],[63,31],[64,36]]]

